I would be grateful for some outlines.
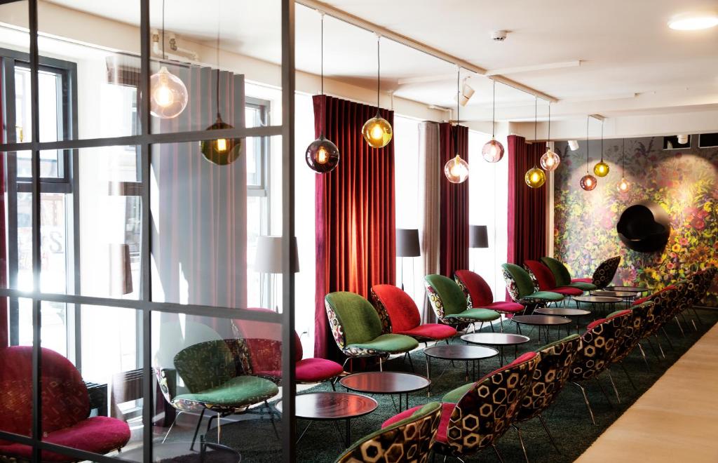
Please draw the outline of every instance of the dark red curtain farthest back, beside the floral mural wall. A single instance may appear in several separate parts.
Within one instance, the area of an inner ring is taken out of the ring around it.
[[[523,177],[539,166],[546,152],[543,143],[526,143],[522,136],[508,137],[508,256],[507,261],[523,266],[528,259],[546,256],[546,207],[549,190],[529,188]]]

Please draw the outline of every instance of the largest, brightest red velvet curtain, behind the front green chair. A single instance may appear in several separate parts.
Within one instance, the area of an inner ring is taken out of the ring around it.
[[[322,111],[322,109],[324,111]],[[327,323],[324,296],[352,291],[367,297],[375,284],[396,282],[394,215],[394,143],[371,148],[363,139],[364,122],[376,107],[314,96],[314,133],[322,129],[340,152],[336,169],[317,174],[317,286],[314,355],[342,357]],[[381,111],[393,124],[393,111]]]

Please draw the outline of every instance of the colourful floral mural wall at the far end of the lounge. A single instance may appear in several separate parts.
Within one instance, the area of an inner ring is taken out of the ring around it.
[[[603,141],[607,177],[586,192],[579,180],[586,173],[586,142],[571,151],[556,143],[561,165],[554,177],[554,256],[564,261],[572,275],[590,277],[596,266],[611,256],[621,256],[614,284],[661,289],[690,273],[718,266],[718,148],[663,150],[663,137],[625,140],[625,178],[628,192],[619,192],[623,140]],[[600,158],[600,141],[589,142],[589,170]],[[616,223],[623,210],[635,202],[653,200],[671,217],[666,248],[656,253],[631,251],[621,243]],[[718,285],[704,304],[718,306]]]

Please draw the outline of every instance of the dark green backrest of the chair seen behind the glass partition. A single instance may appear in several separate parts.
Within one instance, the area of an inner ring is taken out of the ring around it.
[[[191,393],[216,388],[237,375],[234,355],[224,340],[185,347],[174,356],[174,368]]]

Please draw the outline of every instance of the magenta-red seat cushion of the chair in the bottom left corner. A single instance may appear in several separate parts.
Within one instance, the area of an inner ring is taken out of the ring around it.
[[[106,454],[120,449],[130,439],[130,428],[124,421],[107,416],[93,416],[69,428],[52,431],[42,440],[50,444],[72,447],[97,454]],[[19,459],[31,459],[32,447],[25,444],[0,445],[0,454]],[[42,451],[43,462],[72,462],[75,457]]]

